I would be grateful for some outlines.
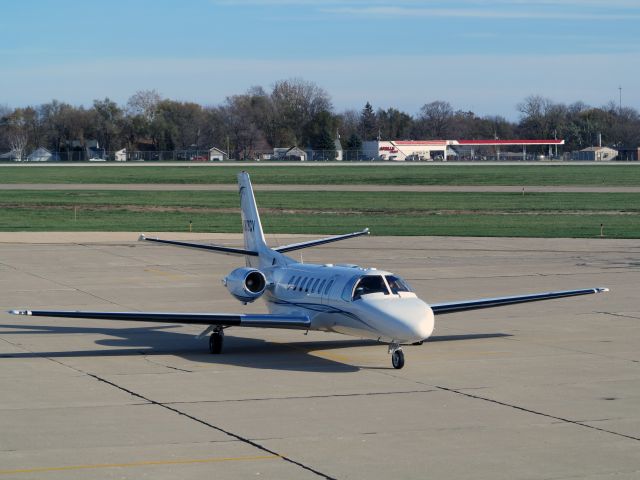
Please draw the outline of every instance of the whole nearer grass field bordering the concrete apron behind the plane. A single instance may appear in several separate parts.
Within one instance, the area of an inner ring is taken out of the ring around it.
[[[267,233],[640,237],[631,193],[257,192]],[[2,231],[240,232],[235,192],[0,191]]]

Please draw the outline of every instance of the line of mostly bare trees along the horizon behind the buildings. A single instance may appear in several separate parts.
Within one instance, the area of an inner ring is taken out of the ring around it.
[[[329,94],[313,82],[288,79],[270,91],[252,87],[221,105],[163,98],[155,90],[135,93],[125,105],[105,98],[91,107],[53,100],[37,106],[0,106],[0,153],[43,146],[68,152],[97,140],[107,151],[188,150],[216,146],[232,158],[256,158],[274,147],[333,150],[339,134],[345,150],[363,141],[422,139],[565,139],[565,150],[597,144],[640,145],[640,114],[610,102],[592,107],[531,95],[517,105],[518,121],[454,110],[447,101],[424,104],[413,116],[396,108],[336,112]]]

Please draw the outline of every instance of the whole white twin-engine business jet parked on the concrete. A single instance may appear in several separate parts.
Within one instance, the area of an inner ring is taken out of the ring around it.
[[[238,174],[244,248],[149,238],[139,240],[175,245],[245,258],[245,266],[229,273],[222,283],[243,304],[262,298],[269,313],[169,313],[11,310],[14,315],[91,318],[197,324],[207,328],[209,351],[220,354],[229,327],[283,328],[336,332],[388,345],[393,368],[404,366],[403,345],[421,344],[433,333],[434,316],[481,308],[573,297],[609,291],[584,288],[527,295],[481,298],[428,304],[409,284],[392,272],[351,264],[324,265],[297,262],[286,253],[369,234],[369,229],[318,240],[270,248],[247,172]]]

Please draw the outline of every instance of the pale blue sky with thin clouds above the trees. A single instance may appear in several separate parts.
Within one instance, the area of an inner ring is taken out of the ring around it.
[[[336,112],[542,95],[640,110],[640,0],[0,0],[0,105],[219,105],[301,78]],[[620,91],[620,87],[622,90]]]

